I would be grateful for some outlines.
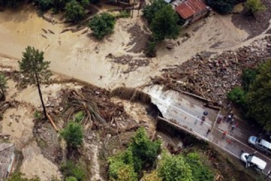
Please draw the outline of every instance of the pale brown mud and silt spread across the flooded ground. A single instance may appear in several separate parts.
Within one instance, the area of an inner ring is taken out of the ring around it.
[[[107,88],[105,92],[108,95],[101,98],[99,91],[96,91],[92,92],[94,98],[123,107],[124,111],[121,112],[125,112],[125,116],[115,115],[116,119],[107,120],[111,132],[108,127],[99,124],[85,124],[85,155],[82,162],[89,164],[88,180],[106,180],[103,176],[106,175],[105,156],[127,145],[136,127],[144,126],[150,134],[155,130],[155,120],[148,115],[146,105],[112,98],[109,89],[141,87],[149,83],[151,76],[160,75],[160,70],[168,65],[183,63],[197,52],[222,52],[247,45],[250,40],[246,39],[251,35],[245,31],[246,28],[241,30],[239,26],[236,27],[231,15],[211,13],[206,19],[182,30],[178,39],[160,43],[157,57],[146,58],[143,51],[149,30],[141,17],[118,19],[114,33],[103,41],[89,36],[91,30],[87,28],[74,33],[63,32],[66,25],[60,17],[56,15],[57,23],[52,24],[39,17],[32,7],[0,12],[0,67],[5,67],[0,71],[9,78],[7,101],[16,103],[3,113],[1,133],[9,134],[9,141],[14,142],[16,149],[23,154],[20,171],[29,178],[39,175],[44,181],[52,176],[61,178],[59,168],[66,153],[52,125],[34,118],[34,112],[41,111],[36,87],[19,87],[20,75],[13,72],[18,70],[17,61],[27,45],[43,50],[45,60],[51,61],[50,68],[58,73],[54,74],[52,83],[42,85],[41,89],[47,110],[59,130],[69,120],[66,116],[61,118],[65,108],[61,102],[63,89],[80,92],[85,86],[85,83],[76,82],[73,78],[98,86],[96,90],[99,87]],[[96,104],[99,105],[98,102]],[[105,108],[102,104],[99,106],[100,109]],[[118,133],[112,130],[118,130]]]

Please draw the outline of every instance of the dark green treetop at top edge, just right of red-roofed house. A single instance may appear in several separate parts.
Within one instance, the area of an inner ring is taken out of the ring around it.
[[[208,6],[221,14],[231,12],[235,6],[236,0],[206,0]]]

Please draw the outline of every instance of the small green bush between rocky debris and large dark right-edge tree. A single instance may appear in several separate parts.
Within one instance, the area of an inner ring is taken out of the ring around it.
[[[246,92],[241,87],[235,87],[227,94],[227,98],[236,105],[244,107],[246,105]]]

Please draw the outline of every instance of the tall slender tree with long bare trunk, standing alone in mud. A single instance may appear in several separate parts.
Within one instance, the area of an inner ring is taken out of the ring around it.
[[[47,120],[45,105],[43,102],[43,95],[41,94],[40,83],[48,81],[52,72],[49,70],[49,61],[44,61],[44,52],[36,50],[34,47],[26,47],[23,52],[23,58],[18,61],[20,72],[23,74],[23,82],[29,84],[36,84],[39,89],[39,97],[41,98],[41,105],[43,107],[43,114]]]

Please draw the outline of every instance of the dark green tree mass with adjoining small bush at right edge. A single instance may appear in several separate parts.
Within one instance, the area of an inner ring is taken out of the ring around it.
[[[247,118],[256,120],[266,130],[271,130],[271,60],[257,70],[246,69],[242,74],[242,87],[228,93]]]

